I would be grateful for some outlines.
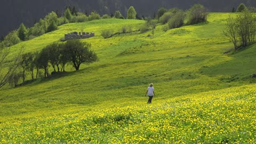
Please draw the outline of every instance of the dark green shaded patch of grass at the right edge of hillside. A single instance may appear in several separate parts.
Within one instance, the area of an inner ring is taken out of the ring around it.
[[[245,47],[238,51],[231,51],[227,54],[230,60],[222,61],[218,65],[203,66],[200,71],[207,76],[220,76],[221,82],[249,82],[254,83],[252,75],[256,74],[255,45]]]

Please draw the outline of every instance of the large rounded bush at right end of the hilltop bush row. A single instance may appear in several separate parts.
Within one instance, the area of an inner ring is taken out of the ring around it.
[[[208,13],[206,12],[206,9],[201,4],[195,4],[192,6],[188,12],[188,24],[194,25],[199,22],[206,22]]]

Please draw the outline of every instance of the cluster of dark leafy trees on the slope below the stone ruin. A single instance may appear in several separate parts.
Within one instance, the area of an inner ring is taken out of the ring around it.
[[[9,76],[9,83],[16,86],[20,78],[25,82],[27,74],[34,80],[38,78],[39,70],[43,70],[46,78],[50,76],[50,67],[53,69],[53,75],[65,71],[65,65],[68,63],[79,70],[82,63],[89,64],[98,60],[97,54],[90,50],[90,47],[90,43],[71,40],[47,45],[40,52],[23,53],[18,62],[18,70]]]

